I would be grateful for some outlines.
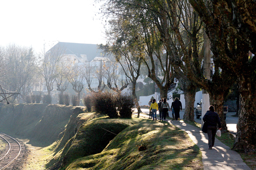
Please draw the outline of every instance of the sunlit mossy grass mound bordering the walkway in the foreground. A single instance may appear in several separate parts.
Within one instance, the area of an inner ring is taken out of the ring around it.
[[[138,123],[119,133],[100,154],[77,159],[67,169],[203,169],[201,152],[184,131],[167,122],[134,120]],[[138,151],[142,143],[147,149]]]

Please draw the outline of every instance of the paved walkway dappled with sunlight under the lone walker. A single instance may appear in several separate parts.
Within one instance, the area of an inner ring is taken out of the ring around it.
[[[148,118],[148,114],[143,114]],[[159,118],[159,117],[158,117]],[[159,119],[158,119],[159,120]],[[202,152],[202,159],[205,170],[240,170],[250,169],[242,160],[241,156],[224,143],[215,139],[214,147],[212,150],[208,150],[208,137],[206,133],[203,133],[200,128],[193,125],[185,124],[184,121],[172,121],[167,119],[168,123],[177,126],[181,130],[184,130],[192,141],[199,146]]]

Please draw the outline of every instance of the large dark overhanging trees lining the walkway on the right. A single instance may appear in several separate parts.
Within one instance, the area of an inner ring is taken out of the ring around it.
[[[240,112],[235,148],[255,151],[255,2],[204,0],[99,0],[109,19],[105,51],[117,61],[129,58],[139,69],[143,63],[150,77],[167,97],[174,76],[185,95],[184,119],[194,121],[196,88],[207,90],[226,128],[222,105],[230,86],[237,80]],[[209,39],[209,40],[208,40]],[[214,74],[203,72],[207,44],[214,62]],[[162,54],[162,51],[166,54]],[[158,67],[163,79],[158,79]],[[139,72],[134,70],[138,76]],[[134,76],[134,79],[136,79]]]

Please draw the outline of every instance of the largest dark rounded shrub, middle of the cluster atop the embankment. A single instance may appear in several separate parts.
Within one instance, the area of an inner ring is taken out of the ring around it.
[[[98,92],[93,95],[93,107],[95,111],[106,114],[109,117],[117,117],[115,97],[110,92]]]

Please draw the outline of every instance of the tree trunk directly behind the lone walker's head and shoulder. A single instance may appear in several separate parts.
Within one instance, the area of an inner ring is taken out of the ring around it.
[[[218,113],[218,116],[220,117],[221,121],[221,130],[227,130],[226,127],[226,121],[224,118],[224,112],[223,112],[223,103],[224,103],[224,93],[222,92],[213,92],[212,94],[209,94],[210,96],[210,105],[213,105],[214,111]]]

